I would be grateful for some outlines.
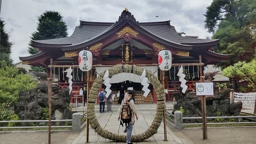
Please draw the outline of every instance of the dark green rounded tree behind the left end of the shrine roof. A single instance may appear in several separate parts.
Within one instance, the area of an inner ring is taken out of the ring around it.
[[[31,40],[47,40],[53,38],[63,38],[68,36],[68,26],[63,21],[60,12],[45,11],[38,17],[36,32],[32,33]],[[38,49],[33,47],[31,40],[28,46],[30,54],[38,53]]]

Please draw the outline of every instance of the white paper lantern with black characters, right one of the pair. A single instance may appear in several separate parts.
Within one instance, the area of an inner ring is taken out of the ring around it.
[[[160,70],[170,70],[172,65],[172,54],[169,50],[161,50],[158,53],[158,65]]]

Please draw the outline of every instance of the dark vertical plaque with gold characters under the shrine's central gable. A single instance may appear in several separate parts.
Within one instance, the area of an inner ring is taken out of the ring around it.
[[[122,44],[122,62],[132,63],[132,44]]]

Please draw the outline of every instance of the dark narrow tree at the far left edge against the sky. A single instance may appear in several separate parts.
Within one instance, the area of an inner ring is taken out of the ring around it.
[[[0,61],[5,60],[7,65],[12,65],[12,58],[10,56],[11,54],[11,48],[12,48],[12,42],[9,41],[9,35],[4,30],[4,20],[0,18]]]

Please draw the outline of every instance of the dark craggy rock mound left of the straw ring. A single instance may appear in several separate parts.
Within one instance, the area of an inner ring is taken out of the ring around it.
[[[46,81],[38,85],[29,93],[19,92],[18,106],[15,113],[20,120],[44,120],[44,108],[48,107],[48,85]],[[72,119],[69,88],[60,90],[58,84],[52,85],[52,119]]]

